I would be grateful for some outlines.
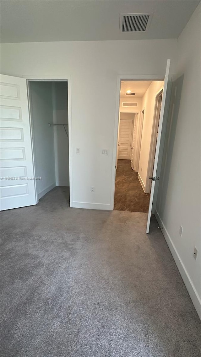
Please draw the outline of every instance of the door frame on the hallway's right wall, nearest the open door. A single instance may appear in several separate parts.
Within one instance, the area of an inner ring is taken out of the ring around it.
[[[148,169],[147,169],[147,178],[146,178],[146,186],[148,188],[148,193],[151,190],[151,183],[152,180],[149,178],[152,176],[153,171],[153,161],[155,158],[155,151],[156,151],[156,141],[157,141],[157,132],[158,132],[158,124],[159,124],[159,116],[158,114],[158,99],[162,95],[163,87],[157,92],[155,97],[155,108],[154,108],[154,115],[153,115],[153,125],[152,125],[152,134],[151,134],[151,144],[149,149],[149,160],[148,160]],[[157,120],[158,119],[158,120]]]

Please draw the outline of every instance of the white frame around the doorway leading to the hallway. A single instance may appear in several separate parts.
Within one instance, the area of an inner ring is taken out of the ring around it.
[[[118,124],[119,124],[119,104],[120,104],[120,89],[121,81],[164,81],[164,77],[160,75],[117,75],[117,91],[116,91],[116,106],[115,106],[115,122],[114,122],[114,141],[113,141],[113,157],[112,157],[112,175],[111,175],[111,207],[114,209],[114,190],[116,176],[116,160],[117,160],[117,145],[118,145]]]

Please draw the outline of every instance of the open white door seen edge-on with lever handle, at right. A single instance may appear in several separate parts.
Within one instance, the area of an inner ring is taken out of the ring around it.
[[[163,95],[162,95],[162,102],[161,102],[161,113],[160,113],[160,119],[159,119],[159,124],[158,124],[158,137],[157,137],[157,143],[156,143],[155,161],[154,161],[154,166],[153,166],[153,178],[152,178],[151,195],[150,195],[150,201],[149,201],[146,233],[149,233],[149,225],[150,225],[150,220],[151,220],[155,183],[156,183],[156,180],[159,180],[159,177],[156,176],[156,172],[157,172],[157,168],[158,168],[157,167],[158,166],[158,155],[159,155],[160,142],[161,142],[161,132],[162,132],[163,116],[164,116],[164,110],[165,110],[165,104],[166,104],[169,72],[170,72],[170,60],[167,60],[167,67],[166,67],[166,74],[165,74],[165,79],[164,79]]]

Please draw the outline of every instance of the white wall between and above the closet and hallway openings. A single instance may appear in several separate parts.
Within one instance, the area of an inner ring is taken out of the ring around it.
[[[117,75],[163,78],[168,58],[174,71],[176,45],[174,39],[1,45],[3,74],[71,77],[73,206],[112,209]]]

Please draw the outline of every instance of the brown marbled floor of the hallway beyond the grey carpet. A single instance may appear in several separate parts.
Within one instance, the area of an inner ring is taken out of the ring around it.
[[[118,160],[114,193],[114,210],[148,212],[149,195],[144,193],[130,160]]]

